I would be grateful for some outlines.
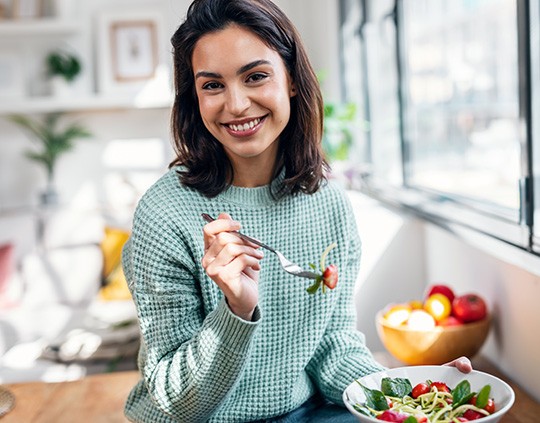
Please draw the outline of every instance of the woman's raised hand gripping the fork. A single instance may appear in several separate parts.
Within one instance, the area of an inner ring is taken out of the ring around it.
[[[251,320],[259,301],[259,260],[263,253],[231,233],[240,223],[226,213],[204,226],[204,256],[206,274],[223,291],[231,311]]]

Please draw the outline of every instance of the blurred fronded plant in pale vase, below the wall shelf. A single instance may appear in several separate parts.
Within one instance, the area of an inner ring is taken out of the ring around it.
[[[40,198],[43,205],[57,202],[54,173],[58,158],[75,147],[75,140],[91,136],[91,133],[78,123],[60,128],[61,117],[62,113],[50,113],[44,116],[43,121],[39,121],[24,115],[9,116],[9,120],[30,134],[40,147],[37,151],[26,151],[26,157],[45,167],[47,186]]]

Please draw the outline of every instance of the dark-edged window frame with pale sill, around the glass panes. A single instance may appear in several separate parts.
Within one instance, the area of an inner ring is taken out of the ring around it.
[[[342,2],[344,0],[341,0]],[[370,10],[373,0],[359,0],[363,10]],[[406,140],[407,113],[406,93],[404,86],[404,48],[402,45],[403,2],[394,0],[393,20],[396,25],[396,67],[399,103],[399,138],[401,148],[401,171],[403,183],[391,185],[379,180],[369,172],[362,172],[360,190],[366,194],[394,207],[407,210],[423,219],[439,226],[449,228],[460,225],[486,234],[522,250],[540,254],[540,228],[534,227],[534,217],[540,219],[540,187],[536,203],[534,202],[534,181],[540,176],[540,48],[535,40],[538,38],[540,27],[540,6],[530,0],[516,0],[517,4],[517,40],[518,40],[518,81],[519,81],[519,126],[521,157],[519,182],[520,206],[517,213],[503,213],[501,209],[493,208],[486,202],[471,201],[470,199],[440,193],[407,185],[408,150]],[[367,16],[371,19],[371,16]],[[376,24],[376,23],[375,23]],[[366,22],[359,23],[359,31]],[[365,39],[363,39],[365,41]],[[369,48],[365,44],[362,49]],[[363,55],[365,57],[365,54]],[[364,57],[362,60],[364,60]],[[343,61],[342,61],[343,63]],[[369,72],[370,64],[363,63],[363,68]],[[534,76],[534,77],[533,77]],[[536,80],[535,80],[536,78]],[[365,80],[369,81],[369,75]],[[369,99],[371,90],[363,86],[365,97]],[[536,96],[536,98],[535,98]],[[367,103],[369,104],[369,102]],[[369,113],[369,110],[368,110]],[[367,116],[372,118],[372,116]],[[369,134],[368,142],[373,143]],[[538,148],[534,149],[534,145]],[[370,149],[371,150],[371,149]],[[534,155],[536,152],[536,155]],[[370,159],[370,158],[369,158]],[[536,166],[535,166],[536,164]],[[365,167],[365,166],[364,166]],[[533,173],[536,170],[536,173]],[[532,177],[532,175],[535,175]],[[540,184],[538,184],[540,185]]]

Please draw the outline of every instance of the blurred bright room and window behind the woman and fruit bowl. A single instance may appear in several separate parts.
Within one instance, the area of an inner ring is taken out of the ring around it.
[[[276,0],[325,98],[324,148],[363,239],[358,328],[440,282],[483,296],[481,354],[540,399],[539,5]],[[172,159],[187,0],[0,0],[0,382],[135,367],[119,267]]]

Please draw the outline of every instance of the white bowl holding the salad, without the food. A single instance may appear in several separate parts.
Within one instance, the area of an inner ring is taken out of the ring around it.
[[[368,417],[354,409],[354,404],[363,404],[366,401],[364,392],[358,382],[370,389],[381,390],[381,380],[385,377],[409,379],[414,387],[420,382],[431,380],[444,382],[454,389],[462,380],[466,379],[471,384],[471,391],[478,392],[485,385],[491,386],[490,398],[495,401],[495,413],[482,417],[479,422],[495,423],[512,407],[515,394],[510,385],[503,380],[488,373],[473,370],[471,373],[462,373],[455,367],[450,366],[408,366],[388,369],[373,373],[353,381],[343,392],[343,402],[347,409],[354,414],[362,423],[381,423],[373,417]]]

